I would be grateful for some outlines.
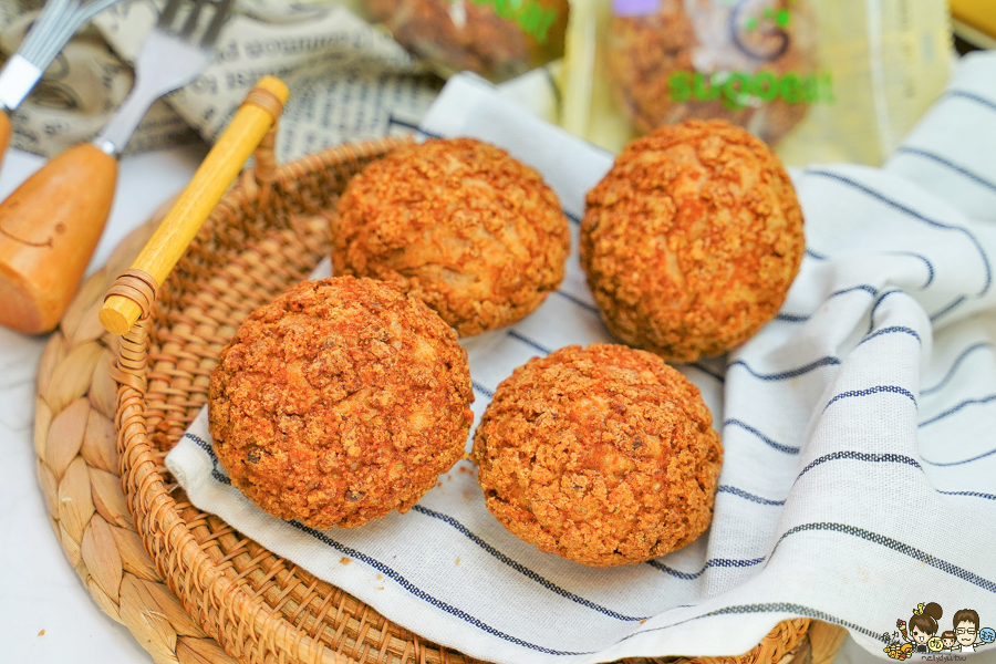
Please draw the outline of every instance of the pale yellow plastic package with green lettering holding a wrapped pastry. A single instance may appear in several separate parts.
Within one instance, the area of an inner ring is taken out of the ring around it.
[[[945,0],[572,0],[561,124],[612,152],[723,117],[792,165],[878,165],[951,69]]]

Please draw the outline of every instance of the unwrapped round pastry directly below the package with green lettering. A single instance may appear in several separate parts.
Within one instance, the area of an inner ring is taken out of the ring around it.
[[[581,264],[609,330],[674,362],[745,342],[785,301],[805,251],[778,157],[724,121],[630,143],[588,193]]]

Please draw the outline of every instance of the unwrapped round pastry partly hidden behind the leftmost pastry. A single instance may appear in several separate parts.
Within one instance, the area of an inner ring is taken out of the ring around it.
[[[460,336],[539,307],[570,251],[567,219],[540,175],[473,138],[374,162],[350,180],[331,225],[334,273],[397,283]]]

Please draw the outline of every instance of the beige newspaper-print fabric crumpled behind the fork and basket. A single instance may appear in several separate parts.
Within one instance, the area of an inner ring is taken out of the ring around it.
[[[129,63],[165,0],[121,0],[97,14],[56,56],[13,114],[11,144],[53,155],[89,141],[131,91]],[[37,15],[0,0],[0,50],[10,55]],[[281,160],[346,141],[384,136],[392,116],[417,122],[439,82],[419,73],[390,37],[331,0],[241,0],[216,44],[211,65],[157,102],[128,145],[141,152],[207,141],[227,126],[263,74],[291,89],[281,134]]]

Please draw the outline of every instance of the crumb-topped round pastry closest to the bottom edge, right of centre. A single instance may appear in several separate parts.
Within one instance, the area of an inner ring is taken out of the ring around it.
[[[502,382],[474,436],[488,509],[513,535],[592,567],[697,538],[723,447],[698,388],[623,345],[568,346]]]

